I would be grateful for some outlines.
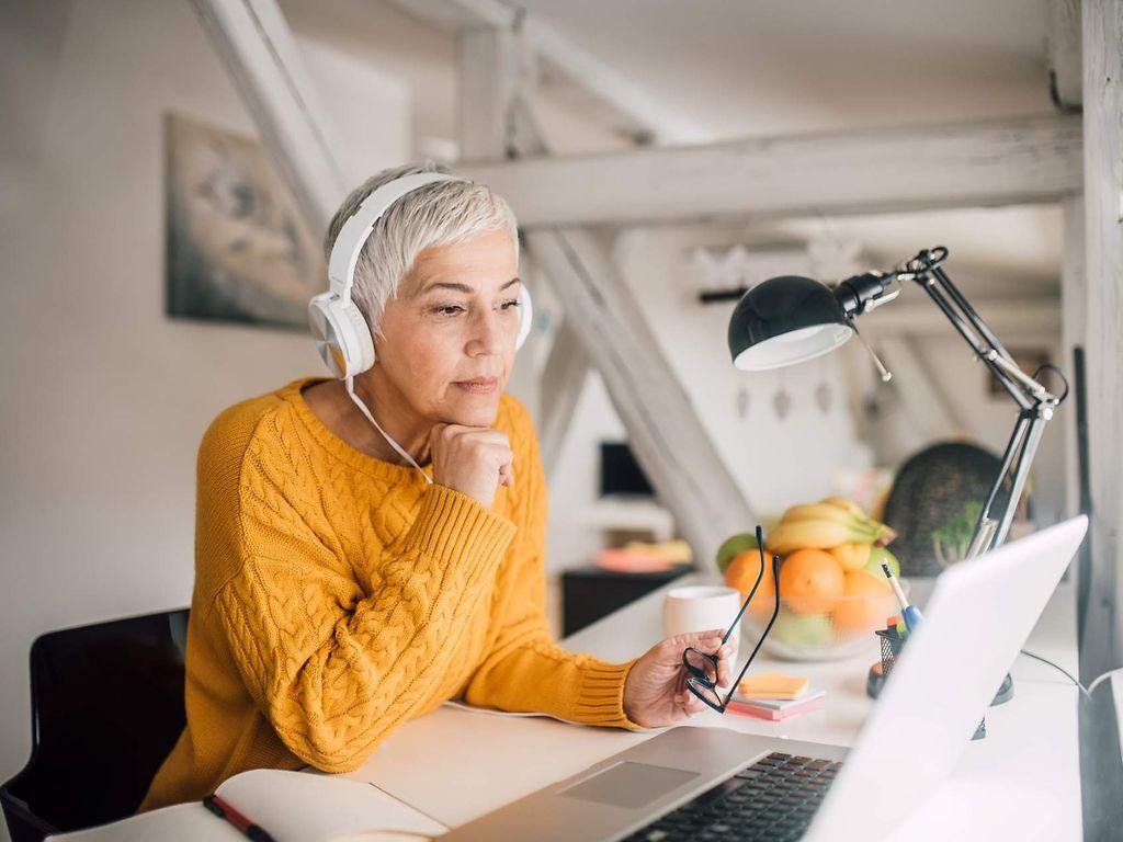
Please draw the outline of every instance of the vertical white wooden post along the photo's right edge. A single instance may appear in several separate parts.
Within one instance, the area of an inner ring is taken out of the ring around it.
[[[1123,0],[1085,0],[1084,226],[1092,569],[1080,671],[1123,663]]]

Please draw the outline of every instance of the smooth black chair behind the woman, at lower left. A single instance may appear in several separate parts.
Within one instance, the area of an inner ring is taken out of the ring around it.
[[[12,842],[133,815],[186,721],[188,610],[31,644],[31,757],[0,787]]]

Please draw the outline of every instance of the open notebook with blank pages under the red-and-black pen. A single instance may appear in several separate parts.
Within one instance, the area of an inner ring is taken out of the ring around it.
[[[276,842],[420,842],[448,827],[377,787],[328,775],[254,769],[217,794]],[[112,824],[49,836],[66,842],[245,842],[201,802],[176,804]]]

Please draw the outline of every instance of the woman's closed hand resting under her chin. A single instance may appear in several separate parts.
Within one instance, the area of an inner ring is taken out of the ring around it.
[[[436,424],[431,432],[432,479],[491,509],[500,485],[514,485],[514,451],[505,432],[490,427]]]

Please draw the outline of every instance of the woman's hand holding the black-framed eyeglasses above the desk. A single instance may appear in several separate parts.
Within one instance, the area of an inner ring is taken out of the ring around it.
[[[624,715],[637,725],[660,727],[690,719],[710,710],[686,688],[683,651],[694,647],[702,652],[718,653],[718,685],[725,687],[731,676],[733,643],[721,646],[722,629],[677,634],[656,643],[628,670],[624,680]],[[724,695],[724,694],[723,694]]]

